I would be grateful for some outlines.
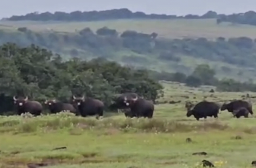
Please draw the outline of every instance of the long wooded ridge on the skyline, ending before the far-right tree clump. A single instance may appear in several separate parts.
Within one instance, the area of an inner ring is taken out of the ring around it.
[[[44,12],[44,13],[28,13],[26,15],[11,16],[10,18],[4,18],[9,21],[21,21],[21,20],[33,20],[33,21],[96,21],[96,20],[111,20],[111,19],[213,19],[217,18],[218,14],[213,11],[209,11],[204,15],[192,15],[185,16],[166,15],[166,14],[145,14],[144,12],[132,12],[127,8],[110,9],[101,11],[89,11],[81,12],[74,11],[71,13],[66,12]]]

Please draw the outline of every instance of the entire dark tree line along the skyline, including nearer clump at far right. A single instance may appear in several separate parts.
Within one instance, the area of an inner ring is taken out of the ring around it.
[[[184,16],[166,15],[166,14],[145,14],[143,12],[132,12],[127,8],[110,9],[102,11],[74,11],[66,12],[44,12],[44,13],[28,13],[26,15],[14,15],[10,18],[4,18],[9,21],[97,21],[97,20],[113,20],[113,19],[216,19],[216,23],[230,22],[246,25],[256,25],[256,12],[250,10],[245,13],[234,14],[218,14],[212,10],[203,15],[187,14]]]

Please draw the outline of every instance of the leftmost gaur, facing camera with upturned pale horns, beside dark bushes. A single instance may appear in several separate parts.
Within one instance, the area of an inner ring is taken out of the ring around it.
[[[29,112],[35,116],[39,116],[43,111],[43,106],[41,103],[28,100],[28,97],[18,97],[13,96],[14,104],[17,106],[18,115],[22,113]]]

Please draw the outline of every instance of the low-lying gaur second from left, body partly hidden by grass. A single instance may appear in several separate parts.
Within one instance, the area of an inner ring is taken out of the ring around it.
[[[58,100],[45,100],[44,102],[51,113],[58,113],[61,111],[70,111],[71,113],[77,114],[75,107],[70,103],[63,103]]]

